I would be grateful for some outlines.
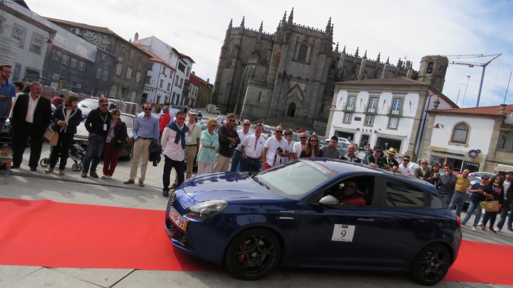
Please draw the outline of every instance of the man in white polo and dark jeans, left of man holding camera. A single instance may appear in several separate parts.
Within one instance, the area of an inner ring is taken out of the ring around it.
[[[264,151],[265,139],[262,137],[264,127],[262,124],[257,124],[255,127],[255,134],[247,136],[242,142],[242,160],[241,171],[255,171],[260,170],[260,162],[262,162],[262,153]]]

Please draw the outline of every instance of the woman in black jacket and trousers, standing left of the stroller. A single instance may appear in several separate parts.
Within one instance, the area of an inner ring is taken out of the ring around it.
[[[57,164],[57,159],[61,156],[59,175],[64,175],[71,140],[73,140],[73,136],[76,134],[76,127],[82,122],[82,110],[77,108],[78,100],[78,97],[69,95],[66,97],[66,100],[64,100],[64,105],[61,104],[57,106],[53,112],[53,129],[59,134],[59,138],[57,145],[52,147],[52,152],[50,153],[50,167],[45,170],[47,174],[53,172]]]

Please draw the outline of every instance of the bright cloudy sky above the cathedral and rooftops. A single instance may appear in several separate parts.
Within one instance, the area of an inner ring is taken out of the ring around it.
[[[196,75],[213,83],[220,48],[230,22],[273,33],[283,13],[294,7],[294,22],[324,30],[328,18],[334,24],[334,42],[353,54],[367,50],[370,59],[381,52],[390,63],[406,57],[419,69],[425,55],[498,54],[486,68],[480,106],[499,105],[504,100],[513,70],[513,0],[504,1],[166,1],[148,0],[26,0],[38,14],[89,25],[109,27],[126,39],[155,35],[191,56]],[[315,6],[312,6],[312,3]],[[491,59],[459,59],[485,63]],[[473,107],[481,80],[481,67],[449,65],[443,93],[463,107]],[[463,75],[462,75],[463,74]],[[512,80],[513,81],[513,80]],[[464,85],[462,85],[464,84]],[[513,84],[506,103],[513,104]]]

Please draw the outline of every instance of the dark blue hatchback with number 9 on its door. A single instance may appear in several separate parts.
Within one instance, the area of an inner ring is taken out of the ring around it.
[[[165,230],[175,248],[246,280],[281,265],[407,271],[432,285],[462,239],[429,183],[326,158],[196,176],[171,195]]]

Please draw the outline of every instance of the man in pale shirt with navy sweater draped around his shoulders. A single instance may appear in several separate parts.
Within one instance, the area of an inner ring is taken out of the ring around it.
[[[184,125],[184,122],[185,112],[177,112],[176,120],[164,128],[164,133],[162,133],[161,145],[164,148],[164,173],[162,175],[164,188],[162,189],[162,195],[164,197],[169,197],[169,176],[172,168],[176,171],[178,186],[185,180],[184,150],[186,139],[189,137],[189,128]]]

